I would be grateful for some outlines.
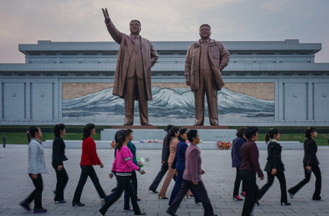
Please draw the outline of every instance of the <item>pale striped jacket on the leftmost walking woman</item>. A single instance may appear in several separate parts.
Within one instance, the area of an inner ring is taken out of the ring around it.
[[[42,174],[47,172],[43,146],[36,139],[31,139],[29,142],[29,161],[27,173]]]

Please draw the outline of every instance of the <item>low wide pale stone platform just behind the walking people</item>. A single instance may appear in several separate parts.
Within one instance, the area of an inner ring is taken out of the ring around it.
[[[82,148],[81,140],[64,140],[68,149]],[[97,149],[112,149],[112,141],[95,141]],[[162,150],[162,143],[141,143],[140,141],[132,141],[138,150]],[[259,150],[267,150],[265,141],[256,141]],[[299,141],[280,141],[283,150],[303,150],[304,144]],[[53,140],[46,140],[42,143],[44,148],[52,148]],[[218,150],[217,141],[202,141],[197,145],[200,150]],[[232,148],[232,146],[231,146]],[[222,150],[221,150],[222,151]],[[228,150],[226,150],[228,151]]]

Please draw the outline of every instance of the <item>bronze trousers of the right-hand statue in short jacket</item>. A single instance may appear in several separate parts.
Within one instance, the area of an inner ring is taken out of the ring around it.
[[[194,91],[195,124],[204,125],[204,93],[206,92],[210,125],[218,125],[217,88],[212,70],[200,70],[199,88]]]

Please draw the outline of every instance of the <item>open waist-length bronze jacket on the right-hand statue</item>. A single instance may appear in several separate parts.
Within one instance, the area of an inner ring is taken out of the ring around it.
[[[185,59],[185,77],[190,80],[191,90],[199,88],[199,61],[200,61],[200,42],[197,40],[188,47]],[[208,57],[212,69],[212,77],[215,80],[217,91],[225,84],[221,79],[221,70],[223,70],[230,61],[230,53],[219,41],[210,39]]]

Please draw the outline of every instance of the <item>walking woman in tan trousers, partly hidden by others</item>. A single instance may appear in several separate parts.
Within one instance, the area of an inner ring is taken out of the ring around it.
[[[176,174],[176,170],[171,167],[173,164],[173,159],[175,159],[176,155],[176,148],[178,144],[178,135],[180,135],[180,129],[178,129],[177,126],[173,126],[169,131],[167,136],[164,139],[164,142],[166,145],[170,148],[170,155],[168,159],[168,165],[169,165],[169,170],[167,173],[166,178],[164,178],[164,182],[162,184],[162,187],[158,193],[158,198],[162,199],[168,199],[166,196],[167,189],[169,187],[169,184],[171,182],[171,179],[173,179],[173,176]]]

